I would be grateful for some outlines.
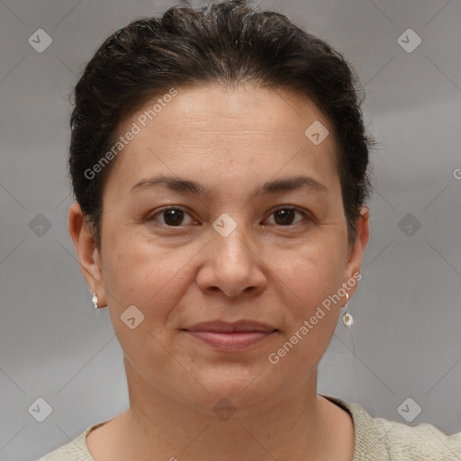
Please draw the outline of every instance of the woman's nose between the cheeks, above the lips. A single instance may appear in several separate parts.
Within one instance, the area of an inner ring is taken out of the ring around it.
[[[258,251],[259,249],[259,251]],[[211,239],[203,249],[205,262],[197,275],[197,285],[205,294],[221,291],[230,297],[257,294],[267,286],[267,267],[261,258],[260,245],[242,222],[229,235],[212,229]]]

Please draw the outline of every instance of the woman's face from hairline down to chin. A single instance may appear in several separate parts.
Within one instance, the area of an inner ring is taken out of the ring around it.
[[[349,247],[332,128],[309,100],[255,86],[176,91],[121,125],[135,134],[104,188],[101,253],[80,250],[84,275],[109,307],[131,392],[155,388],[210,414],[221,398],[279,404],[314,385],[346,303],[339,288],[360,269],[367,215]],[[276,331],[240,334],[258,339],[240,349],[191,333],[240,320]]]

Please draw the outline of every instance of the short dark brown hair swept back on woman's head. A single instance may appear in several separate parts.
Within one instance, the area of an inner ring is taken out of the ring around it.
[[[330,120],[339,148],[339,179],[355,240],[360,208],[371,192],[369,149],[354,68],[326,42],[283,14],[243,0],[199,10],[175,6],[114,32],[87,63],[74,93],[69,173],[75,198],[101,245],[102,192],[111,165],[88,178],[132,113],[171,87],[246,82],[307,95]]]

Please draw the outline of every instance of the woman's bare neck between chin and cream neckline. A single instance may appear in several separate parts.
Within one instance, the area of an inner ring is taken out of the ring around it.
[[[131,370],[132,372],[132,370]],[[317,395],[317,371],[309,381],[291,393],[281,393],[268,402],[251,404],[233,399],[235,412],[208,411],[200,402],[179,402],[134,376],[127,370],[130,409],[118,417],[113,426],[116,449],[113,459],[140,461],[167,459],[170,461],[223,461],[274,459],[348,459],[340,457],[339,412],[336,405]],[[333,410],[333,408],[336,410]],[[344,420],[342,420],[344,422]],[[344,426],[342,426],[344,427]],[[335,429],[336,428],[336,429]],[[344,433],[344,431],[342,431]],[[350,432],[345,434],[350,440]],[[109,444],[107,444],[109,446]],[[114,445],[112,445],[114,447]],[[108,447],[107,447],[108,448]],[[104,449],[107,449],[104,448]]]

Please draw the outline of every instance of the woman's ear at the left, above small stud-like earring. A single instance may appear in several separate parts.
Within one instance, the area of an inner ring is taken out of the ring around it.
[[[77,250],[80,269],[86,283],[98,298],[98,307],[107,305],[99,252],[80,205],[73,203],[68,212],[68,231]]]

